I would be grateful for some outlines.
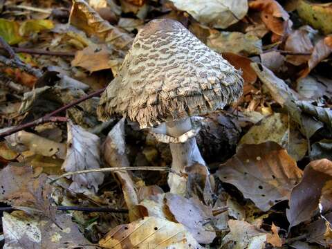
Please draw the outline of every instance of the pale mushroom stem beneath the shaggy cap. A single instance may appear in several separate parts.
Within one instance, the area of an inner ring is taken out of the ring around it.
[[[169,136],[178,137],[190,129],[192,129],[190,118],[166,122],[166,131]],[[196,138],[190,138],[183,143],[170,143],[169,147],[172,153],[172,169],[174,171],[185,172],[185,167],[190,167],[195,163],[205,165],[199,147],[197,147]],[[185,194],[187,181],[184,177],[169,173],[167,183],[171,193]]]

